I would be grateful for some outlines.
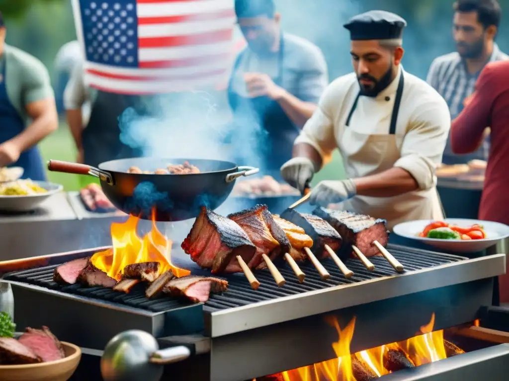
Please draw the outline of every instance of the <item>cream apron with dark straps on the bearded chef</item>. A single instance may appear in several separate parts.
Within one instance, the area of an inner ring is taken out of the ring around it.
[[[351,118],[358,98],[355,101],[348,119],[344,122],[343,134],[338,137],[343,164],[349,178],[363,177],[388,170],[401,157],[400,149],[405,137],[406,125],[405,123],[398,125],[397,117],[403,83],[403,71],[401,71],[400,84],[392,110],[391,125],[387,134],[370,134],[359,132],[362,129],[356,129],[356,123],[361,122],[361,118]],[[355,213],[386,219],[387,227],[390,230],[404,221],[443,218],[436,186],[428,190],[418,190],[395,197],[355,196],[340,204],[340,207]]]

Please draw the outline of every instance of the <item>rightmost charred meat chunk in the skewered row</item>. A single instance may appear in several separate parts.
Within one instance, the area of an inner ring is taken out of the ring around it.
[[[321,207],[316,208],[313,213],[324,218],[341,235],[350,256],[355,257],[349,249],[351,245],[357,246],[366,257],[381,255],[373,241],[380,242],[384,247],[387,246],[389,231],[384,219]]]

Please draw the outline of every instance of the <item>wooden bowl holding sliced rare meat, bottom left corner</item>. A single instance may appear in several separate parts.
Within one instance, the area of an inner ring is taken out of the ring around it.
[[[78,346],[62,342],[65,358],[40,364],[0,365],[2,381],[67,381],[81,359]]]

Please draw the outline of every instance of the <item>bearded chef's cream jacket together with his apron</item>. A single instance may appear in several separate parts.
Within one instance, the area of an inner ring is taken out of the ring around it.
[[[398,119],[395,133],[389,134],[401,75],[404,87]],[[355,73],[334,80],[295,144],[312,145],[324,165],[339,148],[349,178],[400,167],[419,185],[415,192],[395,197],[355,196],[343,203],[343,209],[384,218],[389,229],[406,220],[443,218],[435,170],[442,162],[450,129],[446,102],[429,84],[400,67],[397,77],[376,98],[359,97],[347,126],[359,90]]]

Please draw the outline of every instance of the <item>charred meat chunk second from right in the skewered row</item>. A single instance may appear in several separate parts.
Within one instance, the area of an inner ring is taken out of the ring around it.
[[[299,213],[293,209],[285,210],[281,217],[304,229],[306,234],[313,240],[311,250],[316,256],[329,257],[325,245],[328,245],[334,251],[341,247],[341,236],[322,218],[312,214]]]

